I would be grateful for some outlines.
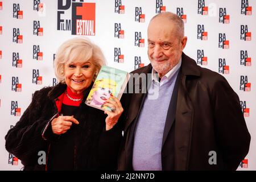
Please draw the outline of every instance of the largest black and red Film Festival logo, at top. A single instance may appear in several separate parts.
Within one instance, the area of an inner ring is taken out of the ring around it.
[[[95,35],[95,3],[82,3],[83,0],[72,1],[72,28],[71,19],[61,19],[61,15],[65,13],[63,10],[71,7],[71,0],[58,1],[57,30],[71,30],[72,35]]]

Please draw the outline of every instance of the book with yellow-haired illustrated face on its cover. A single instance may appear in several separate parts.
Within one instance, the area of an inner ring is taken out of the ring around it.
[[[130,74],[128,72],[105,65],[102,66],[85,104],[97,109],[111,111],[110,107],[104,106],[104,102],[111,95],[120,100],[129,78]]]

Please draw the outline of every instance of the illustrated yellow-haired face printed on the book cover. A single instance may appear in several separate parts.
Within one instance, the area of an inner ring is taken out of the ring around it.
[[[115,93],[116,82],[110,79],[97,80],[90,92],[90,104],[104,108],[104,102]]]

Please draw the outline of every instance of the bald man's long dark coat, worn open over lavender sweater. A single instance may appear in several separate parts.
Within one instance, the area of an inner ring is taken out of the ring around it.
[[[179,85],[173,93],[176,92],[177,97],[171,99],[172,107],[168,109],[164,127],[162,169],[236,169],[250,146],[250,134],[237,94],[223,76],[199,67],[184,53],[180,69]],[[151,73],[151,70],[150,64],[133,73]],[[143,85],[136,84],[135,81],[133,86],[139,86],[142,91]],[[134,126],[144,96],[144,93],[126,94],[126,104],[123,105],[126,105],[127,116],[118,159],[119,170],[133,169]],[[172,109],[173,106],[176,108]],[[210,151],[216,152],[217,164],[209,164],[213,155]]]

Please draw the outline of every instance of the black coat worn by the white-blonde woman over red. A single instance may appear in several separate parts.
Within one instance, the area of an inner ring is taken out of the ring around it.
[[[34,93],[31,104],[24,111],[19,122],[9,130],[6,139],[6,150],[22,161],[24,170],[45,170],[46,165],[38,164],[39,151],[48,155],[49,146],[55,138],[44,140],[42,131],[49,120],[57,113],[55,100],[67,88],[65,84],[43,88]],[[105,131],[104,111],[84,104],[90,88],[85,90],[84,100],[79,107],[78,121],[83,121],[80,133],[77,134],[77,170],[117,169],[117,153],[121,140],[118,124]],[[65,160],[65,159],[64,159]]]

